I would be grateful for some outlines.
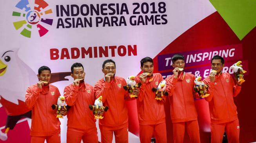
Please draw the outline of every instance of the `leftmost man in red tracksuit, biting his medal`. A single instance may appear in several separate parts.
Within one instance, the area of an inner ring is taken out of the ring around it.
[[[51,70],[47,66],[38,69],[39,82],[27,88],[25,104],[32,108],[31,143],[60,143],[60,121],[51,105],[57,104],[60,92],[49,84]],[[65,114],[66,111],[61,111]]]

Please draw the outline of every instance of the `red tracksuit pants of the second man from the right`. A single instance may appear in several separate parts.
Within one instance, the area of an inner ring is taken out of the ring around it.
[[[174,143],[183,143],[185,127],[187,128],[187,133],[189,134],[191,143],[200,143],[199,126],[197,120],[172,123]]]

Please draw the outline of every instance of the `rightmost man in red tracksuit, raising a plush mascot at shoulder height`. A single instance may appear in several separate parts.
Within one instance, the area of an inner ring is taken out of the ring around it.
[[[236,97],[241,90],[241,82],[234,84],[229,73],[222,73],[224,59],[215,55],[211,60],[210,75],[203,80],[209,85],[210,96],[205,100],[209,102],[211,116],[211,142],[221,143],[224,130],[227,133],[228,141],[239,143],[239,122],[233,97]]]

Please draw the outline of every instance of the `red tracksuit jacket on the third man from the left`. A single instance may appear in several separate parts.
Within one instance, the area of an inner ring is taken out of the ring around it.
[[[103,114],[104,118],[99,121],[101,129],[116,130],[128,127],[128,111],[125,100],[130,98],[127,91],[123,89],[126,85],[125,79],[115,77],[111,82],[100,79],[94,86],[96,98],[102,96],[103,106],[108,106],[109,110]]]

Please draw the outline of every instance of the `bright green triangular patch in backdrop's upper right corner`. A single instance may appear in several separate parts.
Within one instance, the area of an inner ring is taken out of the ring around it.
[[[256,0],[209,0],[241,40],[256,26]]]

